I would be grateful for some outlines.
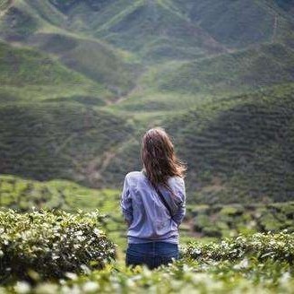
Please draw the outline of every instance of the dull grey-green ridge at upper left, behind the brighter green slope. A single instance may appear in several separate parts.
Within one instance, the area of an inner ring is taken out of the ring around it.
[[[38,33],[25,43],[58,58],[58,61],[94,82],[99,82],[119,97],[130,91],[140,65],[125,61],[124,53],[96,39],[72,34]]]

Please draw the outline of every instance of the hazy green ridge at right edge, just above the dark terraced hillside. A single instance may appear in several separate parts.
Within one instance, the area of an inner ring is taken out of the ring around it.
[[[154,74],[146,87],[156,85],[159,91],[220,97],[293,82],[294,50],[265,44],[171,66]]]

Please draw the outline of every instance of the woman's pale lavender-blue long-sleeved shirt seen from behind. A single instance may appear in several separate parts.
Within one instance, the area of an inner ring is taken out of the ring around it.
[[[162,186],[159,188],[174,212],[172,218],[142,171],[133,171],[125,176],[121,207],[125,220],[129,223],[128,243],[146,243],[152,240],[178,243],[177,227],[186,211],[185,182],[182,177],[169,177],[168,185],[173,195],[168,189]]]

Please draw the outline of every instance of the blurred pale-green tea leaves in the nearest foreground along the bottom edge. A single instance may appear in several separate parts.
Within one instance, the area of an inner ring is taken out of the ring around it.
[[[241,263],[180,260],[150,271],[136,267],[108,265],[87,275],[68,275],[68,279],[31,286],[24,281],[3,290],[8,293],[83,294],[83,293],[293,293],[290,264],[268,260],[265,263],[244,259]]]

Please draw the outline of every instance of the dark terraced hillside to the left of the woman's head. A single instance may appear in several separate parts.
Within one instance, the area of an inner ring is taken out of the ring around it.
[[[89,186],[104,184],[104,162],[133,128],[106,111],[65,102],[0,107],[0,125],[2,173]]]

